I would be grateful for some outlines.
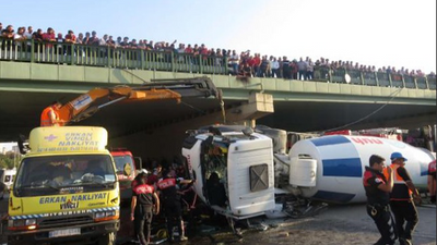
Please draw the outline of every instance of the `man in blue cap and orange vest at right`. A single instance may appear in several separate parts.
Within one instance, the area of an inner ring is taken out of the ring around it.
[[[404,168],[406,158],[401,152],[393,152],[390,159],[390,168],[393,170],[394,177],[393,189],[390,194],[390,207],[397,223],[399,243],[401,245],[412,244],[412,233],[418,223],[417,209],[412,195],[416,201],[421,201],[421,196]]]

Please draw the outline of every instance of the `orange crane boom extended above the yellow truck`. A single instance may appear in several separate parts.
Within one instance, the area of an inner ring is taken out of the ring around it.
[[[60,125],[82,121],[93,115],[98,109],[121,100],[164,100],[175,99],[178,103],[186,97],[214,96],[221,98],[221,91],[213,82],[206,77],[179,78],[179,79],[152,79],[138,87],[127,85],[93,88],[78,98],[64,103],[57,112]]]

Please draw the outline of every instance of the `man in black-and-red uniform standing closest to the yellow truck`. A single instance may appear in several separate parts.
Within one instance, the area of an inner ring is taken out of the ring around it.
[[[154,212],[160,213],[160,198],[153,186],[147,185],[144,177],[139,177],[138,185],[132,188],[130,219],[134,221],[135,234],[141,245],[150,243]]]

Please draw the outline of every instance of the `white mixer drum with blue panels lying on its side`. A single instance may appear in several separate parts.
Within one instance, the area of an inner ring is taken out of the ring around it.
[[[308,159],[317,161],[316,185],[299,187],[304,197],[347,204],[366,201],[363,174],[365,167],[369,166],[370,156],[379,155],[386,159],[386,166],[390,166],[390,155],[394,151],[401,152],[408,159],[405,169],[413,183],[416,186],[426,186],[428,163],[435,158],[426,149],[399,140],[369,136],[323,136],[297,142],[288,157],[303,159],[291,161],[291,164],[308,164]],[[290,184],[299,186],[302,177],[294,180],[293,169],[305,168],[291,166]]]

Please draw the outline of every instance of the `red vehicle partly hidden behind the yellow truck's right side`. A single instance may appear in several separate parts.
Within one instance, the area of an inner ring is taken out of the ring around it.
[[[137,173],[135,161],[132,152],[125,148],[117,148],[111,149],[110,155],[116,163],[121,200],[130,200],[132,196],[131,184],[133,179],[135,179]]]

